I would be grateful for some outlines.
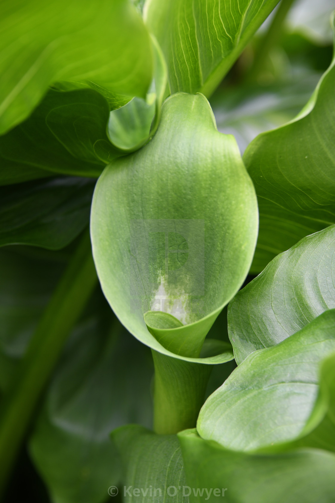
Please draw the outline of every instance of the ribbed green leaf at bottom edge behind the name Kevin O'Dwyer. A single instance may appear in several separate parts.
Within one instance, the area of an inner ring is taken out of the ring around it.
[[[176,435],[156,435],[138,425],[111,434],[119,448],[124,473],[122,496],[126,503],[181,503],[186,485]],[[134,492],[135,490],[135,492]]]

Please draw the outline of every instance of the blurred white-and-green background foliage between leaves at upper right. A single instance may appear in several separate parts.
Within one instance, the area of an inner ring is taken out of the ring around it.
[[[331,62],[331,0],[293,3],[269,40],[280,4],[210,99],[217,128],[243,153],[259,133],[293,119]],[[255,65],[257,64],[257,68]]]

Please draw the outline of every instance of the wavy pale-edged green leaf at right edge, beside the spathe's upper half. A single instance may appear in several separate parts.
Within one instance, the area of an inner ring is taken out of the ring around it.
[[[244,154],[260,211],[254,272],[335,222],[334,61],[301,113],[259,135]]]

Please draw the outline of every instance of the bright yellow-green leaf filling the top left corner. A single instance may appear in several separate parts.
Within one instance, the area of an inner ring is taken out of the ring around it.
[[[29,116],[53,82],[92,81],[130,96],[149,87],[149,34],[126,0],[6,0],[0,31],[2,134]]]

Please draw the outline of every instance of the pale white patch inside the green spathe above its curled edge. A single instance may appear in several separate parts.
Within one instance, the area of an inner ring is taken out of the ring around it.
[[[163,311],[172,314],[184,325],[189,323],[190,317],[190,295],[182,291],[180,294],[168,294],[168,285],[165,277],[159,277],[159,287],[154,292],[150,304],[151,311]]]

